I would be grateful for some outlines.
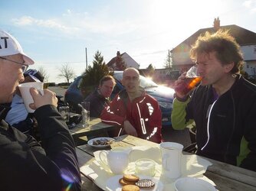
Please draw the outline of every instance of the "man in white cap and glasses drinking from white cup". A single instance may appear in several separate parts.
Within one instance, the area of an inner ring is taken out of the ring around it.
[[[80,170],[74,141],[57,112],[54,92],[31,89],[41,144],[3,119],[23,72],[33,64],[21,45],[0,30],[0,172],[2,190],[80,190]]]

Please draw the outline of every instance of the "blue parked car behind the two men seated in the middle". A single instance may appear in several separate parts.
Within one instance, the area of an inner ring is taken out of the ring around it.
[[[110,96],[110,99],[113,99],[115,95],[117,95],[120,90],[124,87],[121,83],[121,79],[123,78],[123,71],[115,71],[113,73],[114,79],[116,79],[116,86],[113,89],[113,92]],[[75,112],[79,112],[78,103],[82,102],[83,96],[79,89],[80,80],[82,76],[78,76],[74,79],[74,83],[71,83],[71,86],[67,89],[64,95],[65,102],[70,105]],[[170,126],[171,125],[171,113],[172,113],[172,101],[174,95],[174,89],[171,89],[166,86],[159,86],[154,83],[151,79],[148,79],[144,76],[139,76],[140,84],[139,86],[143,87],[146,90],[146,93],[152,95],[158,102],[162,111],[162,125]]]

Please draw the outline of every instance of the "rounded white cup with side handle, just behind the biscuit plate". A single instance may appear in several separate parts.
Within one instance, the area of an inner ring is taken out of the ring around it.
[[[103,162],[115,174],[121,174],[128,167],[129,154],[125,151],[100,151],[101,162]]]

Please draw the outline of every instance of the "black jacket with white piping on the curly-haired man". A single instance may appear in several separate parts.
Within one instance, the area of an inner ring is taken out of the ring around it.
[[[186,122],[195,121],[197,154],[256,171],[256,86],[238,75],[213,99],[212,86],[199,86],[183,110]]]

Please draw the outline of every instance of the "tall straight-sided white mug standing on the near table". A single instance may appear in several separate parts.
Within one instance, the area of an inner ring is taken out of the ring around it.
[[[160,144],[162,153],[162,175],[170,179],[181,176],[181,157],[183,145],[174,142]]]

